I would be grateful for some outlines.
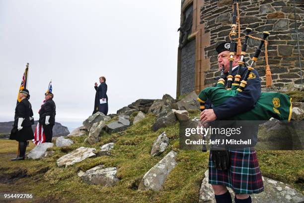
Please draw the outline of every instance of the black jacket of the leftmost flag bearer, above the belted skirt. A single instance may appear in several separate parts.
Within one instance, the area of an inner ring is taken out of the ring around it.
[[[21,126],[31,126],[30,117],[33,116],[32,105],[27,99],[19,102],[15,108],[14,126],[18,125],[18,118],[24,118]]]

